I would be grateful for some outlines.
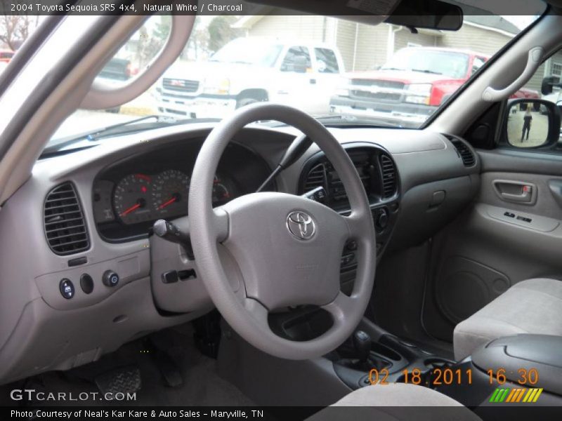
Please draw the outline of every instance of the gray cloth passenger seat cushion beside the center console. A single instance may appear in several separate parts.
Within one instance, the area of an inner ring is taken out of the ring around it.
[[[464,359],[490,340],[518,333],[562,336],[562,281],[516,283],[455,327],[455,358]]]

